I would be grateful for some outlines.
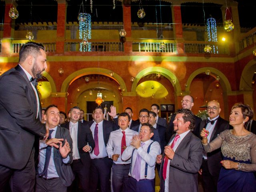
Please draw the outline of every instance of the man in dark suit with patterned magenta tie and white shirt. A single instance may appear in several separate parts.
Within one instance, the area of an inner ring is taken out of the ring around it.
[[[90,191],[97,190],[100,182],[101,192],[110,192],[110,174],[112,159],[108,158],[106,145],[110,132],[117,130],[118,126],[113,121],[104,120],[104,109],[96,107],[93,114],[94,121],[89,121],[88,125],[92,131],[95,148],[90,153],[92,166],[90,171]]]

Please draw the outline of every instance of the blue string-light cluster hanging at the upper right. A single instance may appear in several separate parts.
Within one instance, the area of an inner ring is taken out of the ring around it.
[[[213,42],[212,51],[214,54],[218,54],[218,46],[217,46],[217,28],[216,28],[216,20],[212,17],[207,19],[206,23],[206,33],[207,33],[207,41]]]

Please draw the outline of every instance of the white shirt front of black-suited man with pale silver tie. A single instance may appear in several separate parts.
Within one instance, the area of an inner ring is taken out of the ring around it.
[[[77,144],[77,134],[78,134],[78,122],[72,123],[69,122],[69,133],[73,141],[73,160],[80,159],[80,154],[78,151]]]

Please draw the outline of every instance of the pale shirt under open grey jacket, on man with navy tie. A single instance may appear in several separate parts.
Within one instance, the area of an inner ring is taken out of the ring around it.
[[[55,128],[53,128],[52,130],[54,130],[51,134],[52,138],[55,138],[56,135],[56,131],[57,131],[57,126]],[[44,170],[44,163],[45,163],[45,155],[46,155],[46,148],[48,145],[45,144],[45,140],[40,140],[39,143],[39,156],[38,156],[38,173],[42,173]],[[49,166],[47,169],[47,178],[54,178],[54,177],[59,177],[58,173],[56,171],[56,167],[54,164],[54,152],[53,152],[54,147],[52,147],[51,149],[51,158],[49,161]],[[62,159],[62,162],[67,164],[69,162],[70,158],[69,156],[67,156],[65,159]]]

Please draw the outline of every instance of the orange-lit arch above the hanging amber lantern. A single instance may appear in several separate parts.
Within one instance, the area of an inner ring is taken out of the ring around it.
[[[113,77],[111,77],[109,75],[110,72],[111,72],[110,70],[104,69],[104,68],[84,68],[84,69],[78,70],[76,72],[73,72],[63,81],[62,86],[61,86],[61,92],[67,92],[68,87],[70,86],[70,84],[72,82],[74,82],[76,79],[80,78],[81,76],[85,76],[85,75],[89,75],[89,74],[101,74],[101,75],[109,76],[110,78],[112,78],[116,82],[118,82],[118,84],[120,84],[120,86],[122,88],[125,89],[124,92],[127,92],[126,84],[125,84],[124,80],[122,79],[122,77],[116,73],[114,74]]]

